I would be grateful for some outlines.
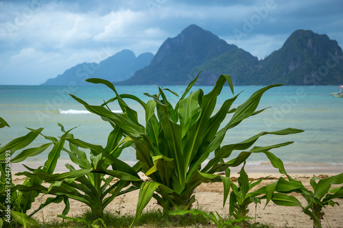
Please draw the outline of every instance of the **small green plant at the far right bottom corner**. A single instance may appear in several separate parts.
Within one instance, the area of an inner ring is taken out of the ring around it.
[[[319,181],[318,181],[319,180]],[[334,175],[332,177],[326,177],[319,179],[318,177],[313,177],[310,181],[312,190],[308,190],[303,186],[303,183],[295,179],[289,179],[288,186],[277,186],[276,191],[282,193],[298,192],[307,201],[306,207],[296,201],[277,201],[272,199],[276,205],[285,206],[298,206],[303,208],[303,212],[307,214],[311,220],[314,222],[314,227],[322,227],[321,220],[323,219],[324,212],[322,209],[326,205],[331,205],[332,207],[338,203],[333,201],[333,199],[343,199],[343,186],[338,188],[331,188],[333,184],[343,183],[343,173],[339,175]]]

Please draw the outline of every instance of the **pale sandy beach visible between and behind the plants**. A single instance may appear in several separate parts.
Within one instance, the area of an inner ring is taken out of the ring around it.
[[[342,166],[327,166],[321,168],[310,168],[310,166],[300,167],[300,166],[286,166],[287,173],[294,178],[298,179],[303,182],[305,187],[311,187],[309,181],[311,177],[330,177],[332,175],[336,175],[338,173],[342,173]],[[239,168],[232,168],[231,169],[231,177],[237,178],[239,177]],[[248,174],[249,178],[252,179],[259,179],[261,177],[268,177],[270,178],[265,179],[261,182],[259,186],[255,188],[259,188],[263,185],[268,183],[272,183],[276,181],[277,178],[285,175],[281,175],[278,173],[278,170],[273,168],[270,164],[260,164],[259,166],[246,166],[246,173]],[[22,183],[24,177],[22,176],[14,176],[14,183]],[[237,184],[237,182],[234,182]],[[338,186],[333,186],[338,187]],[[136,210],[136,203],[138,199],[138,191],[130,192],[125,194],[123,197],[117,197],[108,207],[106,210],[115,212],[119,210],[121,207],[121,214],[134,214]],[[194,193],[196,195],[196,203],[194,203],[194,208],[201,208],[202,210],[206,210],[208,212],[219,212],[222,216],[228,214],[228,203],[226,206],[222,207],[223,202],[223,187],[222,183],[203,183],[201,186],[196,188]],[[306,205],[305,199],[303,199],[299,194],[292,194],[294,197],[297,197],[299,201]],[[47,196],[43,197],[43,199],[36,200],[33,205],[33,209],[38,207],[38,205],[44,201]],[[123,200],[124,202],[119,202]],[[337,200],[340,205],[343,205],[343,199]],[[256,222],[270,225],[272,227],[312,227],[312,221],[309,220],[309,216],[301,213],[300,207],[284,207],[284,206],[277,206],[274,203],[269,203],[267,207],[265,207],[265,201],[262,201],[261,204],[257,205],[256,210]],[[64,208],[64,204],[61,203],[60,205],[51,204],[45,207],[43,210],[38,212],[34,218],[37,220],[51,220],[56,219],[57,214],[61,214]],[[68,216],[77,216],[78,214],[82,214],[88,207],[84,203],[80,203],[78,201],[71,200],[71,210]],[[158,210],[160,208],[156,205],[154,199],[150,201],[147,205],[145,210]],[[342,227],[343,224],[343,206],[335,205],[335,207],[327,206],[324,209],[324,220],[322,221],[323,227]],[[250,205],[250,212],[248,214],[251,217],[255,217],[255,205]],[[206,227],[211,227],[206,225]]]

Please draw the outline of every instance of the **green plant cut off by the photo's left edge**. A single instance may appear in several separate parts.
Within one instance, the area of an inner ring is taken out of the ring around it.
[[[6,123],[3,118],[0,118],[0,127],[10,127],[8,123]],[[62,125],[61,125],[62,126]],[[0,147],[0,170],[1,170],[1,177],[0,177],[0,209],[1,209],[1,221],[2,220],[10,220],[10,216],[14,218],[18,223],[21,225],[25,225],[27,227],[30,226],[38,226],[36,220],[31,218],[33,214],[38,212],[41,208],[45,207],[49,203],[60,203],[62,201],[62,197],[56,197],[54,199],[49,198],[45,203],[42,203],[40,207],[32,212],[32,214],[27,215],[27,210],[32,207],[32,203],[35,201],[36,197],[38,197],[38,192],[35,190],[30,190],[28,192],[23,192],[19,190],[18,186],[14,186],[12,183],[12,173],[10,171],[10,164],[22,162],[27,157],[31,157],[34,155],[38,155],[43,151],[46,151],[49,147],[54,144],[54,147],[49,152],[47,162],[45,162],[43,170],[47,173],[53,173],[56,167],[56,163],[58,157],[60,157],[60,151],[63,148],[64,140],[60,139],[57,140],[51,136],[44,136],[41,131],[43,128],[39,129],[29,129],[29,133],[25,136],[16,138],[5,146]],[[67,133],[64,132],[65,136]],[[40,147],[36,148],[29,148],[21,151],[18,155],[12,158],[12,155],[21,149],[24,149],[29,144],[31,144],[37,136],[42,135],[45,139],[51,141],[49,143],[43,144]],[[62,136],[62,137],[63,137]],[[27,166],[26,166],[27,167]],[[28,168],[28,167],[27,167]],[[34,171],[34,169],[30,169]],[[34,177],[34,178],[27,178],[25,179],[22,186],[25,188],[32,188],[32,186],[42,183],[42,180]],[[10,190],[10,194],[8,191]],[[8,196],[10,195],[10,199]]]

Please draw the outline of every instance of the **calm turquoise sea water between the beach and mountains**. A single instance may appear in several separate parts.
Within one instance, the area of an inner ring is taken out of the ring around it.
[[[263,86],[235,86],[238,99],[233,103],[237,107],[244,103],[250,95]],[[143,101],[149,97],[144,93],[156,94],[157,86],[117,86],[119,94],[134,94]],[[182,94],[185,86],[166,86],[178,94]],[[194,86],[192,90],[198,90]],[[204,93],[211,91],[212,86],[202,86]],[[303,129],[301,134],[289,136],[263,136],[255,146],[266,146],[281,142],[294,141],[287,147],[271,150],[286,164],[311,166],[343,167],[343,99],[328,96],[331,92],[338,92],[338,86],[281,86],[272,88],[263,95],[258,109],[269,107],[261,114],[252,116],[233,129],[229,129],[224,138],[224,144],[244,141],[261,131],[276,131],[287,127]],[[0,116],[10,125],[0,129],[1,146],[14,138],[29,132],[25,127],[38,129],[44,127],[46,136],[61,136],[58,123],[65,129],[71,129],[75,138],[106,146],[107,136],[111,126],[102,119],[86,111],[70,94],[83,99],[89,104],[100,105],[104,100],[115,97],[115,93],[106,86],[0,86]],[[171,103],[178,101],[170,92],[165,92]],[[217,100],[216,110],[222,103],[233,97],[230,88],[223,88]],[[139,103],[126,99],[134,110],[138,111],[139,119],[145,120],[143,108]],[[121,112],[119,105],[110,105],[113,112]],[[226,121],[230,119],[229,115]],[[47,141],[42,136],[30,145],[38,147]],[[49,150],[48,150],[49,151]],[[235,151],[237,155],[240,151]],[[123,151],[121,160],[136,161],[135,151],[130,148]],[[47,153],[30,157],[23,163],[43,164]],[[248,164],[264,164],[268,161],[264,154],[254,154],[248,159]],[[67,153],[62,152],[60,162],[70,162]],[[341,166],[342,165],[342,166]],[[343,171],[343,170],[342,170]]]

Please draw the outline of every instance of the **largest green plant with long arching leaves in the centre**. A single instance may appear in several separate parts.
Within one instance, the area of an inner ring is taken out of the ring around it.
[[[224,181],[226,183],[229,177],[220,177],[214,173],[222,172],[230,166],[238,166],[251,153],[265,153],[272,164],[279,168],[279,161],[269,150],[283,147],[292,142],[268,147],[254,147],[250,151],[239,153],[237,157],[228,162],[224,162],[224,159],[227,159],[234,150],[248,149],[261,136],[302,132],[298,129],[263,131],[243,142],[221,146],[228,129],[237,126],[249,116],[263,111],[256,111],[262,94],[270,88],[281,85],[266,86],[252,94],[245,103],[230,110],[238,96],[236,95],[224,101],[220,110],[213,113],[217,97],[226,82],[233,92],[230,76],[221,75],[209,94],[204,94],[199,89],[186,97],[196,79],[189,84],[175,107],[169,103],[165,96],[165,91],[172,92],[169,89],[159,88],[156,95],[145,94],[152,100],[144,103],[141,99],[130,94],[119,95],[115,86],[103,79],[86,79],[91,83],[105,84],[115,92],[116,97],[103,105],[88,105],[82,99],[72,96],[76,101],[82,103],[88,111],[102,116],[104,120],[115,126],[119,126],[128,136],[128,140],[134,142],[141,171],[152,179],[152,181],[141,184],[140,191],[144,194],[140,193],[137,203],[137,218],[134,223],[139,219],[139,215],[151,197],[154,197],[158,204],[163,206],[165,213],[169,210],[188,210],[195,201],[193,190],[200,183],[206,181]],[[172,93],[177,95],[175,92]],[[145,127],[139,124],[137,112],[128,107],[123,101],[124,98],[138,101],[145,109]],[[108,103],[116,100],[121,106],[122,114],[110,112],[107,107]],[[230,121],[220,129],[221,124],[226,120],[226,116],[232,113],[233,116]],[[206,166],[202,167],[202,163],[213,152],[214,157]],[[228,188],[225,188],[225,191],[228,192]]]

